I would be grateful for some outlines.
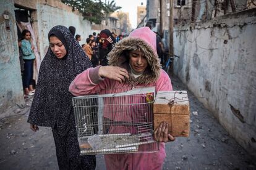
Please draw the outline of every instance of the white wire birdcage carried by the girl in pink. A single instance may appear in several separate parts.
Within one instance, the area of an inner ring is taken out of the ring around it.
[[[81,155],[158,151],[153,140],[155,87],[73,98]]]

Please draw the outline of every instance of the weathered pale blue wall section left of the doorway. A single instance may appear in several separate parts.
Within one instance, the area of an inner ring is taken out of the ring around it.
[[[10,30],[6,30],[4,12],[9,15]],[[8,107],[24,103],[14,1],[0,1],[0,35],[0,115],[2,115]]]

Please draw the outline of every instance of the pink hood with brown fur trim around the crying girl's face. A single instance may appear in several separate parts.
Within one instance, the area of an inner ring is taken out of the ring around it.
[[[145,54],[148,61],[148,68],[139,78],[135,79],[133,76],[130,76],[127,81],[132,84],[148,84],[155,82],[160,76],[161,65],[156,53],[156,34],[148,27],[136,29],[130,33],[128,38],[117,42],[112,51],[108,54],[109,65],[126,68],[130,71],[127,51],[137,49]]]

